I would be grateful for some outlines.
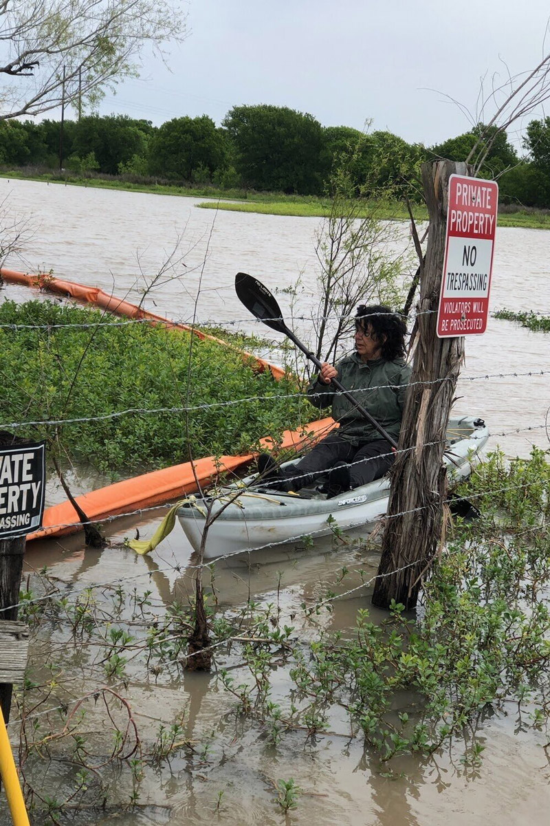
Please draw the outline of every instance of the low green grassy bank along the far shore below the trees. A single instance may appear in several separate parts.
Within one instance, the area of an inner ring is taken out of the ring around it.
[[[0,171],[0,178],[62,183],[85,188],[119,189],[123,192],[145,192],[149,195],[211,198],[211,201],[198,204],[203,209],[256,212],[260,215],[303,218],[325,218],[330,216],[329,199],[310,195],[284,195],[282,192],[254,192],[244,189],[186,186],[155,180],[154,178],[137,178],[135,176],[96,175],[90,178],[80,178],[78,175],[69,172],[35,172],[26,169]],[[412,206],[412,210],[416,221],[427,221],[428,211],[424,206],[415,204]],[[377,217],[381,220],[409,220],[405,204],[401,202],[378,203],[376,212]],[[364,213],[359,213],[358,216],[367,215],[367,213],[372,215],[372,205],[369,205]],[[499,207],[498,225],[532,230],[550,230],[550,210],[501,205]]]

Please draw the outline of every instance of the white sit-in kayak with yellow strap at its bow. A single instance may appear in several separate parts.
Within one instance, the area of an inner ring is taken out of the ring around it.
[[[453,482],[470,475],[488,438],[485,422],[475,416],[449,420],[444,461]],[[320,477],[315,488],[283,493],[267,482],[256,482],[257,476],[204,496],[190,496],[178,509],[180,524],[196,551],[201,548],[206,516],[218,514],[206,533],[205,559],[330,534],[334,524],[339,529],[372,525],[386,514],[388,477],[328,499],[320,491],[326,477]]]

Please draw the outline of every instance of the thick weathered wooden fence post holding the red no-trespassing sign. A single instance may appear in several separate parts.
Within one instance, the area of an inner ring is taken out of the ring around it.
[[[422,164],[429,212],[428,247],[417,307],[415,361],[398,457],[391,472],[382,559],[372,594],[372,604],[381,608],[389,608],[392,599],[407,609],[415,607],[422,573],[441,539],[447,491],[445,433],[463,356],[462,338],[437,336],[448,178],[453,173],[467,175],[467,164],[448,160]]]

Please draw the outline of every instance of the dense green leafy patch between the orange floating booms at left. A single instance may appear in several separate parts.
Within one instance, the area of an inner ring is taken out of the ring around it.
[[[149,324],[116,322],[74,306],[4,301],[4,429],[39,422],[18,432],[47,439],[55,434],[70,458],[112,472],[248,453],[263,436],[277,439],[282,430],[316,418],[296,396],[294,380],[275,382],[235,349]],[[87,324],[92,326],[55,326]],[[135,412],[116,415],[130,409]],[[78,421],[40,424],[47,420]]]

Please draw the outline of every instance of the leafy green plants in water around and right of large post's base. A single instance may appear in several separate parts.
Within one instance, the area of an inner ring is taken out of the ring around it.
[[[450,541],[424,584],[417,619],[392,605],[376,622],[358,611],[355,628],[324,630],[320,615],[346,590],[348,568],[311,605],[302,607],[318,632],[307,645],[286,629],[283,651],[287,686],[281,688],[281,648],[244,647],[252,681],[239,686],[221,672],[244,714],[263,720],[277,742],[286,729],[310,734],[329,728],[335,714],[348,716],[351,731],[386,762],[400,754],[437,750],[450,736],[507,702],[524,709],[534,728],[548,725],[550,705],[550,465],[548,452],[506,462],[492,454],[462,493],[477,501],[483,517],[458,520]],[[254,610],[251,611],[254,615]],[[273,606],[256,610],[254,633],[268,633]],[[273,704],[271,669],[277,660]],[[410,705],[404,692],[413,692]],[[399,709],[397,711],[396,709]],[[465,760],[480,761],[479,743]]]

